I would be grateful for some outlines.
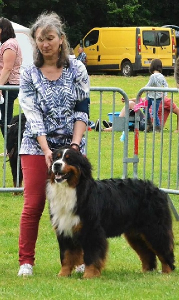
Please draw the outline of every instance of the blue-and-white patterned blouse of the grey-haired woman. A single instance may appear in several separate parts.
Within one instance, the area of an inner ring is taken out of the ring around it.
[[[74,122],[88,121],[87,113],[74,111],[75,103],[88,96],[89,77],[79,60],[70,59],[57,80],[48,80],[33,63],[23,69],[18,99],[27,121],[19,154],[43,155],[36,139],[39,135],[46,135],[50,148],[70,144]]]

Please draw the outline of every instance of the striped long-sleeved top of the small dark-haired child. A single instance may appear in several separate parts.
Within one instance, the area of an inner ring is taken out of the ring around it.
[[[148,83],[145,86],[155,86],[155,87],[168,87],[165,77],[161,73],[153,73],[150,75]],[[148,97],[154,99],[154,91],[148,92]],[[164,92],[164,95],[167,95],[167,92]],[[161,91],[156,91],[156,99],[162,97]]]

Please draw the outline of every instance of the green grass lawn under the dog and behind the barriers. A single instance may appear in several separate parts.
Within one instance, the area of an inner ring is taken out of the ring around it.
[[[172,76],[166,77],[168,85],[175,87]],[[122,88],[128,97],[134,97],[137,91],[147,82],[147,76],[121,77],[91,75],[91,86],[116,86]],[[99,93],[91,92],[90,119],[96,120],[98,117]],[[118,103],[115,110],[120,110],[123,104],[121,96],[117,95]],[[179,106],[178,94],[174,95],[174,101]],[[111,93],[104,93],[102,101],[102,118],[107,117],[107,112],[112,109]],[[18,113],[18,102],[15,101],[14,114]],[[176,125],[176,117],[173,116],[173,129]],[[168,130],[167,123],[164,130],[164,157],[163,157],[163,187],[167,184],[168,156]],[[93,165],[93,175],[97,174],[97,151],[98,132],[88,132],[88,157]],[[119,142],[121,132],[114,134],[114,176],[122,174],[122,151],[123,143]],[[110,176],[110,151],[111,133],[101,132],[101,177]],[[151,155],[152,138],[147,137],[147,164],[146,175],[151,175]],[[159,135],[155,142],[155,180],[158,179],[158,161],[160,140]],[[0,152],[3,151],[3,141],[0,135]],[[129,132],[129,153],[133,155],[133,133]],[[143,135],[139,134],[139,164],[138,172],[142,173],[143,157]],[[176,177],[176,155],[177,155],[177,134],[172,133],[172,158],[171,158],[171,178],[172,185],[175,185]],[[2,173],[2,160],[0,157],[0,174]],[[6,186],[11,186],[12,178],[8,163]],[[128,167],[129,175],[132,175],[132,164]],[[1,176],[0,176],[1,181]],[[0,182],[1,185],[1,182]],[[171,195],[171,199],[177,209],[179,209],[178,196]],[[109,253],[106,267],[100,278],[90,280],[80,280],[81,275],[73,273],[70,278],[57,278],[59,271],[59,251],[52,230],[47,203],[42,214],[39,234],[36,243],[36,255],[34,276],[31,278],[18,278],[18,232],[19,218],[23,205],[23,197],[13,196],[11,193],[0,193],[0,299],[177,299],[179,292],[178,283],[178,258],[179,258],[179,230],[178,222],[173,217],[173,231],[175,237],[175,260],[176,270],[171,274],[159,274],[157,271],[151,273],[141,273],[140,261],[135,252],[128,246],[123,237],[109,239]],[[160,263],[158,262],[158,269]]]

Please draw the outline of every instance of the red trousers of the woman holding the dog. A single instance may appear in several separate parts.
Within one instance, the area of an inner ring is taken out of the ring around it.
[[[38,224],[45,205],[47,166],[44,155],[21,154],[24,204],[20,218],[19,264],[33,265]]]

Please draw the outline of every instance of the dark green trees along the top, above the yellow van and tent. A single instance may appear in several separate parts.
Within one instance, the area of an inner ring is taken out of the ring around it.
[[[29,27],[42,11],[55,11],[74,47],[93,27],[178,24],[176,0],[0,0],[1,15]]]

